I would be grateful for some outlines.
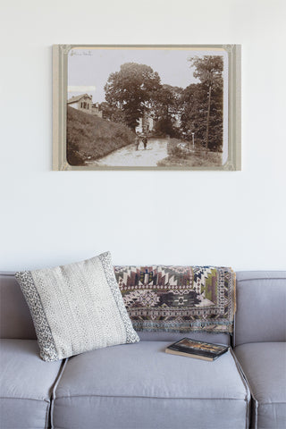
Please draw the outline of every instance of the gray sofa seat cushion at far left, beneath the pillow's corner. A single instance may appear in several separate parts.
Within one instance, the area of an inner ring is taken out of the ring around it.
[[[50,399],[61,362],[40,359],[36,340],[1,340],[0,363],[0,427],[49,427]]]

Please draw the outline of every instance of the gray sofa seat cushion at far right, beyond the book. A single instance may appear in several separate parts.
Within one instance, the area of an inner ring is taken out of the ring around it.
[[[254,397],[252,427],[286,427],[286,342],[254,342],[235,349]]]

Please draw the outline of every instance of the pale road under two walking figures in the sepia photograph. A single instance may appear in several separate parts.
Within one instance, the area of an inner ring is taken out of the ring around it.
[[[147,149],[140,141],[139,149],[129,145],[115,150],[111,154],[90,162],[89,165],[114,167],[156,167],[157,162],[168,156],[168,139],[149,139]]]

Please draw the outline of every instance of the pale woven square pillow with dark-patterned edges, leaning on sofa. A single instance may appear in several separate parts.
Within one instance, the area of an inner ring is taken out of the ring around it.
[[[51,361],[139,341],[124,307],[109,252],[70,265],[16,273]]]

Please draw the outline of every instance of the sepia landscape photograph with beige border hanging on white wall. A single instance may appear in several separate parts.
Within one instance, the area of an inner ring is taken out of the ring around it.
[[[240,170],[240,45],[53,46],[53,169]]]

